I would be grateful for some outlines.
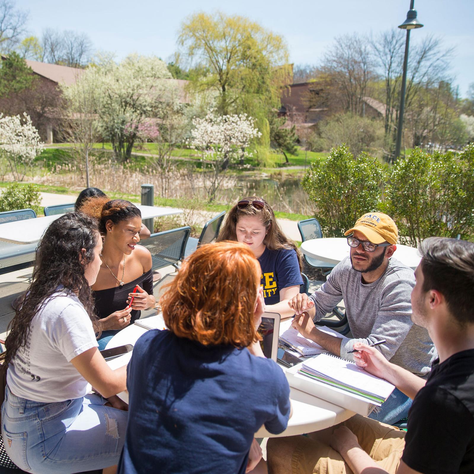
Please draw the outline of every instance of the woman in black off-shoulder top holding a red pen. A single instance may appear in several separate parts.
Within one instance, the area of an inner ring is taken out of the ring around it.
[[[140,318],[141,310],[155,306],[152,260],[149,250],[137,245],[142,224],[137,206],[121,199],[110,201],[106,196],[96,196],[84,201],[80,211],[99,220],[104,239],[100,255],[103,265],[92,286],[102,330],[98,340],[102,350],[120,329]],[[135,286],[137,292],[132,293]]]

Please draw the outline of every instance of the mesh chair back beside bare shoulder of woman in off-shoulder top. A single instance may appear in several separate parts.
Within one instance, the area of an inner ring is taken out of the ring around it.
[[[184,257],[184,249],[190,233],[191,227],[180,227],[157,232],[143,242],[139,242],[151,253],[152,270],[158,270],[168,265],[177,267]]]

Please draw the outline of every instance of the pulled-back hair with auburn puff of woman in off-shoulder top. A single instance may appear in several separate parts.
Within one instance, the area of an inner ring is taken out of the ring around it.
[[[141,219],[142,213],[135,204],[123,199],[113,199],[109,201],[107,196],[95,196],[83,201],[79,209],[84,214],[99,220],[99,230],[102,235],[107,234],[105,225],[109,220],[118,224],[123,220],[130,220],[134,217]]]

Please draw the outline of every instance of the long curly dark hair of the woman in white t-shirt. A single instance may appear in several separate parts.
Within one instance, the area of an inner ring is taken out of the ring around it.
[[[46,229],[36,251],[33,283],[9,324],[5,367],[18,349],[25,346],[32,319],[59,285],[77,294],[93,324],[98,319],[94,314],[91,288],[84,275],[84,267],[94,259],[98,239],[97,221],[81,212],[64,214]]]

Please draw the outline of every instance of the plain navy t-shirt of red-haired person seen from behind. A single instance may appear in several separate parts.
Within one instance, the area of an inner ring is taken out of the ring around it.
[[[140,337],[128,364],[121,474],[245,473],[254,433],[281,433],[290,388],[272,360],[168,330]]]

